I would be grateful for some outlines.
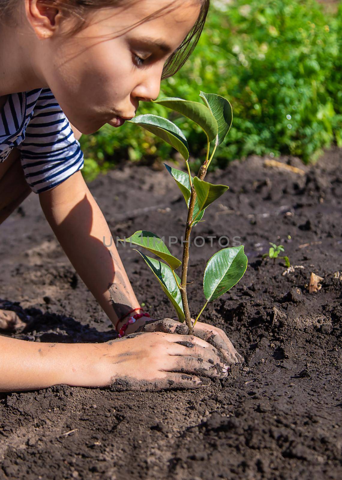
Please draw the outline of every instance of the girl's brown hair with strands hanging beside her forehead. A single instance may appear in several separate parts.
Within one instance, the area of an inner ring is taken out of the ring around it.
[[[70,35],[73,35],[77,31],[82,30],[86,25],[86,14],[89,10],[98,10],[100,8],[119,7],[123,3],[130,5],[134,4],[137,0],[47,0],[48,6],[56,6],[68,15],[71,13],[75,17],[75,28],[70,31]],[[201,36],[206,18],[208,15],[210,0],[197,0],[201,3],[201,10],[196,20],[195,25],[190,30],[188,35],[183,40],[182,44],[166,61],[161,79],[171,77],[178,70],[180,70],[186,60],[190,57],[194,51],[199,37]],[[162,16],[166,10],[172,10],[174,7],[174,1],[171,1],[166,7],[162,7],[148,17],[142,19],[137,24],[131,26],[131,29],[152,19]],[[14,9],[18,5],[18,0],[0,0],[0,16],[13,14]],[[11,15],[12,16],[12,15]]]

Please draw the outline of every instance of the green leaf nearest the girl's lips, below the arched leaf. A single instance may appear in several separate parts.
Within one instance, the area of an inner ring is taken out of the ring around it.
[[[138,115],[128,121],[145,128],[148,132],[154,133],[154,135],[173,146],[183,156],[184,160],[189,158],[189,145],[184,133],[170,120],[157,115],[147,114]]]

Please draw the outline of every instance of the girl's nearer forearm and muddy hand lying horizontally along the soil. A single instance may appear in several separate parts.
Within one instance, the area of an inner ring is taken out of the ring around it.
[[[40,343],[0,336],[0,392],[58,384],[103,387],[114,383],[133,390],[201,386],[195,372],[224,378],[227,366],[216,349],[193,336],[144,333],[100,344]]]

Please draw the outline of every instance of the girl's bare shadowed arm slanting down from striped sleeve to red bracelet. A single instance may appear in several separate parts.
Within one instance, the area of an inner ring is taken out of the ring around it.
[[[108,224],[90,193],[81,171],[57,187],[39,194],[43,212],[61,247],[75,270],[98,303],[116,325],[118,318],[139,302],[112,241]],[[121,322],[118,326],[125,323]],[[144,318],[130,325],[127,333],[135,331]]]

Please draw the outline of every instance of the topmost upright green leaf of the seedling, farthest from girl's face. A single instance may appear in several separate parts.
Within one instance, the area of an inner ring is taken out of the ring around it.
[[[215,93],[204,93],[200,92],[200,97],[208,105],[208,108],[211,110],[214,115],[219,130],[218,130],[218,139],[219,145],[226,138],[227,133],[230,131],[233,121],[233,111],[232,105],[229,101],[223,96],[216,95]]]

